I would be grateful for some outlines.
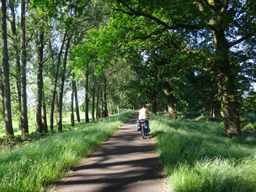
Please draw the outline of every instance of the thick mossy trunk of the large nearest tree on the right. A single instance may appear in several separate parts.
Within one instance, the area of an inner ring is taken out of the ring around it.
[[[209,4],[215,6],[217,1],[211,0]],[[223,117],[225,136],[241,135],[239,112],[235,96],[234,77],[229,63],[229,45],[222,28],[220,17],[212,17],[209,20],[212,30],[213,42],[216,48],[216,60],[214,68],[217,74],[218,91],[221,101],[221,116]]]

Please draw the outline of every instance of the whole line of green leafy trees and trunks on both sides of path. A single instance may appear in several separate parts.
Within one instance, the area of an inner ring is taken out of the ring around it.
[[[28,134],[26,92],[36,82],[38,133],[48,131],[47,113],[50,131],[54,114],[62,130],[68,90],[70,111],[75,100],[79,115],[78,88],[86,122],[89,111],[95,120],[119,104],[135,109],[146,101],[153,113],[165,109],[174,119],[179,110],[220,111],[225,136],[241,135],[241,100],[244,92],[253,95],[255,79],[255,6],[250,0],[2,0],[6,134],[13,134],[14,109]]]

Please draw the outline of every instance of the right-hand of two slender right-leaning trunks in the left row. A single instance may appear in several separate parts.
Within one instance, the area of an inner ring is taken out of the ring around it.
[[[63,67],[61,71],[61,84],[60,84],[60,95],[59,95],[59,106],[58,106],[58,124],[57,124],[58,131],[62,131],[62,103],[63,103],[62,99],[63,99],[63,92],[64,92],[65,73],[66,73],[69,45],[70,45],[70,39],[68,38],[66,49],[65,49],[64,60],[63,60]]]

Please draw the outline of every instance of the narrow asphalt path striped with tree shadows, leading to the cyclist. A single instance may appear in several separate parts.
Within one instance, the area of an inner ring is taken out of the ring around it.
[[[151,135],[143,140],[136,118],[138,112],[57,191],[166,191]]]

